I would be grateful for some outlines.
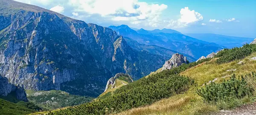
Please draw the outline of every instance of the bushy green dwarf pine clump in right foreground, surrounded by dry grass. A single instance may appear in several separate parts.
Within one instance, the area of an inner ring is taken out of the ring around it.
[[[243,76],[237,79],[232,75],[230,80],[224,80],[222,83],[211,82],[205,88],[198,89],[198,95],[202,96],[206,101],[230,101],[230,99],[241,99],[244,96],[251,96],[253,89],[247,85]]]

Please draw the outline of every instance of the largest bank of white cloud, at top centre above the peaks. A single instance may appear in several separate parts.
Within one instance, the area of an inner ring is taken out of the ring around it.
[[[98,14],[105,20],[127,21],[158,26],[159,15],[167,9],[165,4],[148,4],[138,0],[69,0],[76,12]]]

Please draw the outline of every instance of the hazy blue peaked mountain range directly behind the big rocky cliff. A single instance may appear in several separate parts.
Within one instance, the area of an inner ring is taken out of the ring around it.
[[[140,29],[137,32],[129,28],[127,25],[121,26],[109,26],[109,28],[116,31],[119,35],[129,37],[138,43],[145,45],[160,46],[172,51],[180,52],[190,55],[193,58],[200,58],[202,55],[208,55],[212,52],[216,52],[224,48],[215,43],[209,43],[203,40],[198,40],[193,37],[178,33],[148,33],[144,29]],[[139,33],[138,33],[139,32]],[[140,34],[143,33],[143,34]],[[132,44],[129,43],[128,44]],[[132,48],[137,46],[131,46]]]

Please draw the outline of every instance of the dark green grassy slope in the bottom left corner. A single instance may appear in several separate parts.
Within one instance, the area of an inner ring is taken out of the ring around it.
[[[35,112],[20,104],[0,99],[0,115],[26,115]]]

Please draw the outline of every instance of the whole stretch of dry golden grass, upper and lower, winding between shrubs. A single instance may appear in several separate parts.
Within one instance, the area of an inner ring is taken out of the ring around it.
[[[198,86],[184,94],[157,101],[149,106],[130,109],[117,115],[205,115],[218,112],[216,105],[204,103],[201,96],[196,94],[196,89],[215,78],[218,78],[215,82],[221,82],[233,74],[244,75],[256,71],[256,60],[250,60],[253,57],[256,57],[256,53],[230,63],[216,64],[216,58],[201,63],[180,73],[180,75],[194,78]],[[240,61],[243,61],[243,64],[237,64]],[[236,69],[236,71],[227,71],[230,69]]]

